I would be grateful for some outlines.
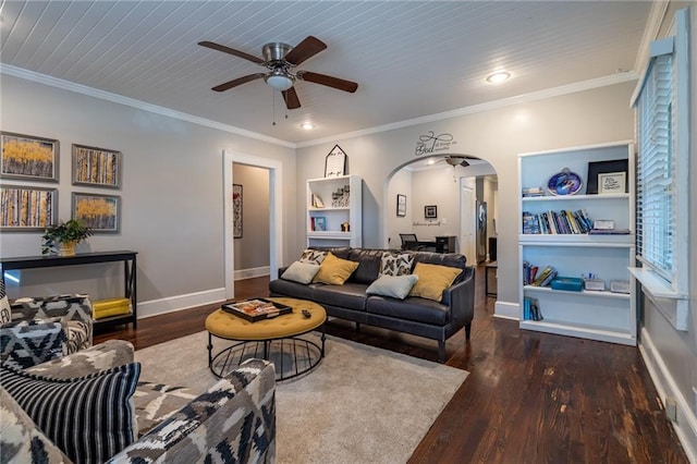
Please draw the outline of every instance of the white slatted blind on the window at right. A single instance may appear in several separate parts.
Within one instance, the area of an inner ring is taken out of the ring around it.
[[[673,57],[653,57],[641,91],[638,111],[637,255],[672,282],[675,218],[673,152]]]

